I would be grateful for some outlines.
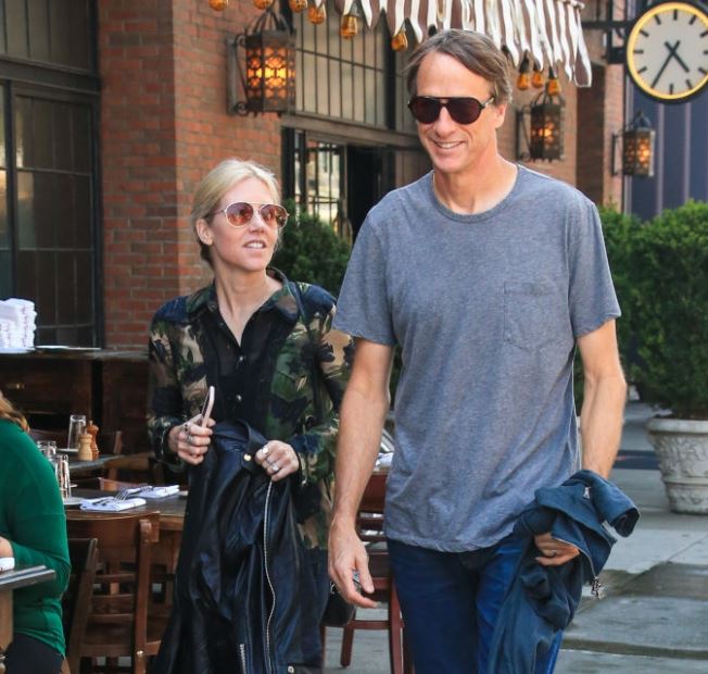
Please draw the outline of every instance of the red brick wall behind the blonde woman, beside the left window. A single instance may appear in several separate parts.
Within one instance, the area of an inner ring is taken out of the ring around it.
[[[257,10],[231,0],[100,0],[105,345],[142,347],[154,311],[208,271],[188,216],[222,159],[280,168],[277,116],[226,110],[226,47]]]

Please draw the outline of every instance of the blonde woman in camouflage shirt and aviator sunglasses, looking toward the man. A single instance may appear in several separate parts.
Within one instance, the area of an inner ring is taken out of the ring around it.
[[[301,607],[308,615],[301,646],[303,664],[317,667],[337,410],[352,340],[331,328],[329,294],[268,269],[288,219],[278,202],[273,174],[250,161],[224,161],[199,185],[190,220],[214,280],[153,319],[149,430],[159,458],[187,466],[204,461],[214,422],[244,421],[267,439],[255,462],[273,483],[291,479],[298,495],[317,588]],[[208,386],[213,420],[202,425]]]

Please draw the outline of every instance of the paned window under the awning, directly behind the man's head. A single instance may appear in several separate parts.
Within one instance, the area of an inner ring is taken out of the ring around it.
[[[408,52],[391,49],[383,17],[374,29],[359,20],[358,35],[342,39],[329,9],[318,26],[291,17],[296,111],[283,121],[283,191],[351,240],[385,192],[429,164],[406,107]]]

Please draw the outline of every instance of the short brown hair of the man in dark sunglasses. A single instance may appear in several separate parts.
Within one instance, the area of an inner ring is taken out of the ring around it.
[[[491,95],[494,96],[495,105],[511,101],[509,64],[504,52],[485,35],[458,28],[435,33],[413,52],[404,71],[412,97],[417,93],[416,79],[420,64],[431,53],[447,54],[468,71],[486,79],[492,85]]]

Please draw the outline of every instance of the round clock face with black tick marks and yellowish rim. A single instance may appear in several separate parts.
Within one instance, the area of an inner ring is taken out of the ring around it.
[[[655,4],[630,30],[627,67],[650,98],[683,102],[708,83],[708,14],[687,2]]]

